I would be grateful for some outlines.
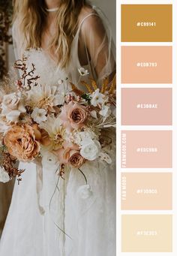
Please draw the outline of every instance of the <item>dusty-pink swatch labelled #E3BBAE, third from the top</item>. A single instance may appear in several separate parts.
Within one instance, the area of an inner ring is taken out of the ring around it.
[[[172,89],[121,89],[121,125],[172,125]]]

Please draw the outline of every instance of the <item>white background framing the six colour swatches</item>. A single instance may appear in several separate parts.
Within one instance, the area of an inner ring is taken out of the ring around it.
[[[121,43],[121,4],[139,4],[139,5],[158,5],[158,4],[172,4],[173,5],[173,40],[172,43]],[[177,3],[176,1],[165,1],[165,0],[119,0],[117,1],[117,74],[118,74],[118,125],[117,125],[117,255],[121,256],[144,256],[144,255],[177,255],[177,228],[176,228],[176,217],[177,217],[177,53],[176,53],[176,36],[177,36]],[[173,63],[172,63],[172,74],[173,83],[171,84],[132,84],[132,85],[121,85],[121,46],[123,45],[160,45],[166,46],[171,45],[173,47]],[[167,88],[172,87],[172,126],[121,126],[121,87],[152,87],[152,88]],[[121,169],[121,130],[172,130],[172,168],[170,169]],[[173,185],[172,185],[172,211],[121,211],[121,172],[172,172]],[[122,214],[172,214],[173,215],[173,251],[172,252],[121,252],[121,215]],[[111,255],[110,255],[111,256]]]

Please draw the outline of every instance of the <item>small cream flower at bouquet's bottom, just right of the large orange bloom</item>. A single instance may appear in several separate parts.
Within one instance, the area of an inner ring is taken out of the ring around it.
[[[57,170],[59,167],[58,158],[52,152],[43,152],[42,154],[42,164],[47,170]]]

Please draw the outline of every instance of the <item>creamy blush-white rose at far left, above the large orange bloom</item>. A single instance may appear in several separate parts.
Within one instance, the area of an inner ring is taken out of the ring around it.
[[[13,92],[5,95],[1,103],[1,115],[5,116],[7,121],[18,122],[20,113],[26,113],[21,93]]]

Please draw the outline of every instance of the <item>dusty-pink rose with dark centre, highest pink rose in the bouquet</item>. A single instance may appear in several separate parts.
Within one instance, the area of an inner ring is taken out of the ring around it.
[[[73,101],[62,107],[62,113],[60,115],[62,124],[68,131],[82,128],[88,117],[89,111],[86,107]]]

